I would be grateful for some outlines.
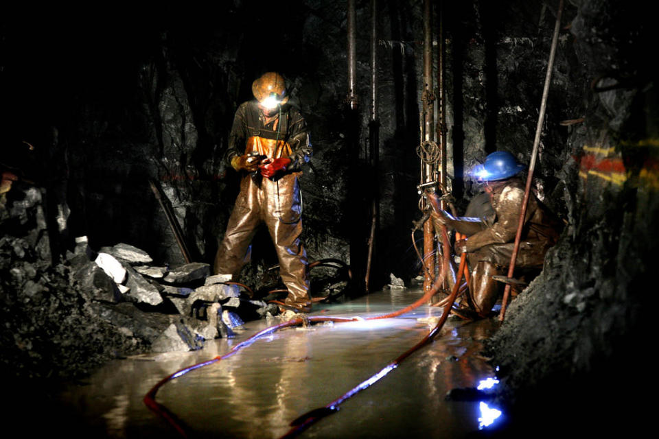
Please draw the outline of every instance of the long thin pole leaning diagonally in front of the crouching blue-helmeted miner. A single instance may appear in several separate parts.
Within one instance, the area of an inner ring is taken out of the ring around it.
[[[540,134],[542,134],[542,124],[544,123],[544,112],[547,106],[547,96],[549,94],[549,84],[551,84],[551,73],[554,67],[554,58],[556,56],[556,46],[558,44],[558,32],[561,27],[561,16],[563,12],[563,0],[558,4],[558,12],[556,13],[556,24],[554,26],[554,35],[551,40],[551,50],[549,51],[549,62],[547,64],[547,73],[544,78],[544,90],[542,91],[542,101],[540,103],[540,115],[537,117],[537,126],[535,128],[535,139],[533,140],[533,151],[531,152],[531,164],[529,165],[529,175],[527,176],[527,186],[524,189],[524,199],[522,200],[522,209],[520,211],[520,222],[517,226],[517,234],[515,235],[515,246],[513,247],[513,255],[510,259],[508,268],[508,277],[513,277],[515,271],[515,263],[517,261],[517,254],[520,250],[520,240],[522,239],[522,228],[524,227],[524,217],[527,214],[527,204],[529,204],[529,195],[531,193],[531,182],[533,180],[533,170],[535,169],[535,158],[537,157],[537,150],[540,146]],[[506,284],[503,292],[503,301],[501,304],[501,312],[499,313],[499,321],[502,322],[505,318],[506,307],[508,305],[508,296],[510,294],[510,284]]]

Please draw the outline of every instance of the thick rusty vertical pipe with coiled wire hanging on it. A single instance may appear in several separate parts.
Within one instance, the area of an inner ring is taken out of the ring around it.
[[[424,91],[421,94],[424,111],[424,129],[421,132],[421,142],[432,141],[433,130],[433,102],[432,102],[432,28],[430,20],[430,0],[424,0]],[[432,163],[421,163],[421,182],[430,182],[433,177]],[[432,277],[435,274],[435,230],[432,222],[424,224],[424,262],[428,272],[424,275],[424,292],[432,287]]]

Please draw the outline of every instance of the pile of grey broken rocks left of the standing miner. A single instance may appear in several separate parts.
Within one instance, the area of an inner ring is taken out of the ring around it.
[[[160,267],[128,244],[96,251],[80,237],[54,263],[44,194],[19,184],[0,201],[3,372],[75,377],[114,357],[198,349],[277,313],[207,263]]]

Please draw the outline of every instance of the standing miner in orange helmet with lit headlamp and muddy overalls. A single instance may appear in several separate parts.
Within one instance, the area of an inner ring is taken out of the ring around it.
[[[256,100],[235,112],[227,161],[239,171],[240,193],[218,248],[216,274],[237,278],[248,260],[257,226],[265,223],[273,239],[285,302],[309,311],[307,257],[301,243],[302,206],[298,177],[312,154],[305,120],[288,104],[284,78],[265,73],[252,84]]]

